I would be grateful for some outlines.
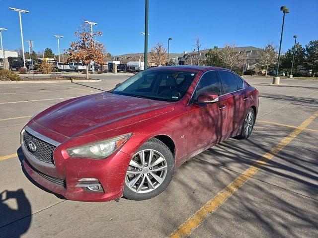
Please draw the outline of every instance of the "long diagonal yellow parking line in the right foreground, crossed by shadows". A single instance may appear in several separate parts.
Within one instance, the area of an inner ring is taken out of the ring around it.
[[[221,206],[236,190],[239,189],[248,179],[250,179],[257,171],[262,168],[269,160],[271,160],[279,151],[288,145],[300,132],[302,132],[315,118],[318,117],[318,111],[310,118],[306,119],[301,125],[286,136],[274,148],[262,156],[253,166],[249,167],[242,175],[226,186],[214,198],[201,207],[193,216],[179,226],[169,237],[179,238],[189,235],[193,229],[197,228],[207,216]]]

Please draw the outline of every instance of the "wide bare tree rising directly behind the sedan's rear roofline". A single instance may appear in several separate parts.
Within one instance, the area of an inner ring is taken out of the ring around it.
[[[235,43],[225,44],[224,48],[222,48],[218,53],[225,66],[231,70],[235,66],[242,65],[247,58],[244,52],[239,52]]]

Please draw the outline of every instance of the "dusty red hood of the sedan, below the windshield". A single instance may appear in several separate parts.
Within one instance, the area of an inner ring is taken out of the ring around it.
[[[150,119],[172,111],[174,106],[171,102],[105,92],[66,101],[54,110],[45,110],[33,120],[54,132],[75,137],[92,134],[97,128],[102,132]],[[150,112],[155,113],[150,115]]]

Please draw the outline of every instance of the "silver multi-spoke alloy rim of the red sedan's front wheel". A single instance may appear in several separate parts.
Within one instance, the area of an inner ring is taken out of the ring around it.
[[[156,150],[146,149],[135,154],[129,163],[125,183],[134,192],[155,190],[165,179],[167,162]]]

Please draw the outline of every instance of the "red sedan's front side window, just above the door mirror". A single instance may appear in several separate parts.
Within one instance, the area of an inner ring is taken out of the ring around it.
[[[221,95],[220,83],[216,71],[209,71],[201,77],[194,93],[194,99],[205,92]]]

